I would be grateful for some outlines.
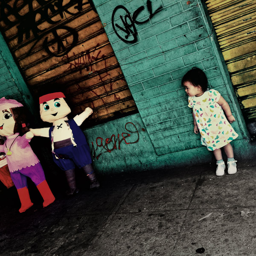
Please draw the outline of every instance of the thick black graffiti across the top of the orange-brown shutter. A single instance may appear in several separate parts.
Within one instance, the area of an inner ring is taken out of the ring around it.
[[[69,52],[78,43],[78,32],[76,29],[60,25],[47,30],[40,29],[39,26],[44,21],[47,21],[49,24],[57,24],[65,17],[65,13],[69,15],[78,15],[81,13],[82,7],[88,3],[91,5],[92,9],[96,11],[92,0],[70,0],[65,5],[63,0],[56,0],[53,2],[48,0],[35,1],[41,5],[41,8],[34,10],[32,0],[15,0],[13,7],[6,3],[5,0],[0,0],[0,20],[3,20],[7,26],[15,26],[16,23],[19,23],[17,25],[18,44],[21,44],[24,39],[29,40],[32,32],[32,35],[35,38],[35,43],[29,49],[27,55],[32,52],[35,45],[43,38],[43,47],[49,55],[57,57],[66,55],[67,52]],[[73,5],[76,10],[74,13],[68,10],[68,8]],[[26,6],[28,6],[28,8]],[[27,8],[28,12],[20,15],[20,12],[25,8]],[[55,17],[56,15],[59,15],[61,19],[52,20],[52,17]],[[15,21],[12,17],[15,17]],[[40,17],[39,20],[36,20],[36,17]],[[61,30],[62,32],[64,31],[62,36],[59,35]],[[49,36],[51,37],[51,40],[49,40]],[[69,38],[69,44],[67,44],[67,38]],[[66,44],[63,43],[64,41]],[[56,45],[56,47],[53,45]]]

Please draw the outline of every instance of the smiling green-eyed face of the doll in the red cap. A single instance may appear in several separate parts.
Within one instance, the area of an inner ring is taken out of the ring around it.
[[[43,98],[43,100],[45,99],[47,101],[43,101],[40,103],[40,116],[44,122],[55,122],[59,119],[64,118],[71,112],[70,107],[67,105],[64,98],[58,97],[61,95],[54,93],[52,94],[52,96],[56,98],[51,99],[51,96],[46,97]]]

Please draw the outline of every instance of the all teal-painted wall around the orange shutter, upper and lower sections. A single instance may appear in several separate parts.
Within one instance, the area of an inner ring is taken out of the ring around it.
[[[191,0],[187,4],[186,0],[151,0],[153,12],[158,7],[162,9],[147,22],[135,24],[137,41],[132,44],[120,40],[113,31],[113,10],[122,5],[133,15],[143,5],[145,10],[137,19],[143,21],[148,19],[147,0],[93,2],[102,23],[107,24],[108,38],[140,112],[84,131],[97,172],[136,172],[212,161],[212,153],[200,145],[199,134],[193,133],[191,109],[187,107],[187,96],[180,85],[183,75],[193,66],[205,71],[209,86],[221,92],[238,120],[233,123],[239,133],[239,139],[232,143],[236,159],[251,159],[255,155],[255,147],[250,146],[241,110],[200,1]],[[122,35],[125,37],[125,33]],[[40,119],[38,106],[33,107],[29,90],[0,35],[2,96],[24,102],[35,113],[35,118]],[[131,132],[135,127],[139,138],[137,133]],[[122,140],[125,133],[131,136]],[[46,138],[32,141],[49,149]],[[41,154],[41,158],[44,156],[51,158],[49,152]],[[55,169],[53,163],[47,166],[50,167]]]

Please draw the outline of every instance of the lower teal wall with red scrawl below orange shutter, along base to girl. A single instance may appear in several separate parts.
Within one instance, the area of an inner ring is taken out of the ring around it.
[[[126,128],[128,130],[125,129],[127,123]],[[137,132],[132,133],[130,131]],[[93,166],[96,172],[101,174],[142,172],[151,169],[188,166],[191,163],[210,163],[212,160],[212,154],[204,147],[193,148],[191,144],[188,145],[188,147],[191,146],[191,149],[186,150],[186,157],[182,156],[178,150],[174,153],[158,156],[151,140],[154,138],[160,143],[160,140],[163,139],[162,134],[154,132],[149,137],[139,113],[106,124],[96,125],[86,129],[84,133],[91,149]],[[126,144],[122,140],[122,133],[130,134],[126,138],[126,143],[130,144]],[[159,134],[160,137],[158,137]],[[116,141],[116,147],[114,147],[114,141]]]

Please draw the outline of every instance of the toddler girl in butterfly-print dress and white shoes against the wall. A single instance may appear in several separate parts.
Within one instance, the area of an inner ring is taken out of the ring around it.
[[[236,121],[228,103],[217,90],[207,90],[207,77],[199,68],[189,70],[181,81],[193,108],[194,132],[201,134],[201,144],[207,146],[217,160],[216,175],[224,175],[226,168],[221,148],[227,155],[228,174],[236,173],[236,160],[230,142],[238,137],[230,123]],[[226,116],[224,115],[224,112]]]

